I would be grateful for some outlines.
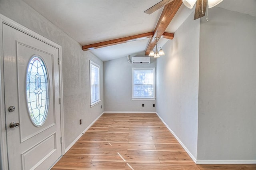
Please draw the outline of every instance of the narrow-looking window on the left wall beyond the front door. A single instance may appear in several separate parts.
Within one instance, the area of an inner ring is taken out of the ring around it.
[[[100,66],[90,61],[91,107],[100,103]]]

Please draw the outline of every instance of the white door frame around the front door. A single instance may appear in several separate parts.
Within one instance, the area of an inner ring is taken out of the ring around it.
[[[62,155],[65,152],[64,144],[64,113],[63,113],[63,86],[62,86],[62,53],[61,46],[44,38],[43,36],[29,30],[28,28],[10,20],[6,16],[0,14],[0,169],[8,170],[8,152],[7,152],[7,140],[6,140],[6,121],[5,121],[5,108],[4,108],[4,59],[3,59],[3,24],[11,26],[25,34],[28,34],[44,43],[51,45],[58,49],[59,58],[59,76],[60,76],[60,125],[62,136]]]

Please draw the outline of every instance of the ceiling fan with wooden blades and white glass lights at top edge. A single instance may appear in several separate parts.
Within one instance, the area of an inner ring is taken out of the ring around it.
[[[149,8],[148,10],[144,11],[146,14],[152,14],[156,10],[162,8],[163,6],[171,3],[174,0],[162,0]],[[218,5],[220,2],[223,0],[182,0],[183,4],[192,9],[194,4],[196,3],[196,9],[195,9],[195,15],[194,15],[194,20],[201,18],[205,15],[206,7],[208,4],[208,8],[212,8],[216,5]]]

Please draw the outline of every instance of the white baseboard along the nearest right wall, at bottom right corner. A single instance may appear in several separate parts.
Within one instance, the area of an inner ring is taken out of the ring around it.
[[[256,164],[256,160],[197,160],[196,164]]]

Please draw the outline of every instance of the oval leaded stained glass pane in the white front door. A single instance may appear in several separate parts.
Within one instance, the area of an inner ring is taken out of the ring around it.
[[[28,63],[26,76],[26,95],[29,116],[35,126],[46,121],[48,113],[49,87],[46,66],[42,59],[34,56]]]

